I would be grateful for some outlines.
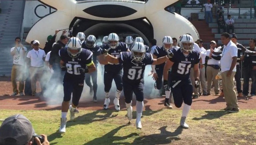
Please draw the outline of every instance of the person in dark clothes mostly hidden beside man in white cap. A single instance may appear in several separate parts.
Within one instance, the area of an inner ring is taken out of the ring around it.
[[[28,52],[33,48],[33,41],[30,42],[31,47],[28,49],[26,56],[28,54]],[[25,72],[25,77],[26,77],[26,82],[25,82],[25,89],[24,89],[24,93],[26,96],[31,96],[32,95],[32,90],[31,90],[31,80],[30,80],[30,72],[29,72],[29,67],[30,67],[30,61],[28,58],[26,58],[27,63],[26,63],[26,72]]]

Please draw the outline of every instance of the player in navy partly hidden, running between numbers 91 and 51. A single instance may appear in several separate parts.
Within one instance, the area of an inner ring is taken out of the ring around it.
[[[173,41],[172,41],[172,37],[171,36],[164,36],[163,38],[163,45],[161,46],[157,46],[154,50],[153,53],[153,58],[159,58],[159,57],[163,57],[166,56],[168,54],[168,51],[171,49]],[[174,52],[175,50],[173,50]],[[165,62],[159,65],[152,65],[152,70],[154,72],[153,74],[153,79],[156,81],[155,82],[155,88],[158,90],[162,89],[162,85],[163,85],[163,71],[164,71],[164,65]],[[172,109],[172,106],[169,103],[169,98],[170,98],[170,94],[171,94],[171,90],[165,90],[165,101],[164,101],[164,106],[166,106],[167,108]]]

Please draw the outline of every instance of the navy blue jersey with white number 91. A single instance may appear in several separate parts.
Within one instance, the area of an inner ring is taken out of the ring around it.
[[[153,56],[150,53],[145,53],[141,63],[132,61],[131,52],[122,52],[118,59],[124,67],[123,80],[132,82],[140,82],[144,78],[145,66],[153,63]]]

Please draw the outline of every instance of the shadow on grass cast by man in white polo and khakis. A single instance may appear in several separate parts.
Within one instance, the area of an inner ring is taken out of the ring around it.
[[[216,119],[216,118],[220,118],[223,115],[228,114],[228,111],[225,110],[220,110],[220,111],[205,111],[207,114],[201,116],[200,118],[194,117],[192,118],[193,120],[202,120],[202,119],[208,119],[208,120],[212,120],[212,119]]]

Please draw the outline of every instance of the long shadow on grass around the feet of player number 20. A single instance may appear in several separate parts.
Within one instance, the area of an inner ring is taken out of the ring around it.
[[[98,113],[106,113],[104,115],[98,115]],[[78,116],[75,118],[75,121],[67,121],[67,125],[66,125],[66,129],[68,129],[70,126],[75,126],[78,124],[89,124],[95,121],[103,121],[106,120],[108,118],[113,118],[117,116],[117,114],[112,114],[112,111],[93,111],[91,113],[87,113],[81,116]],[[69,118],[69,117],[67,117]],[[58,126],[59,127],[59,126]],[[56,130],[55,133],[49,135],[48,137],[48,141],[51,142],[56,138],[62,138],[61,133],[59,133],[59,129]]]

